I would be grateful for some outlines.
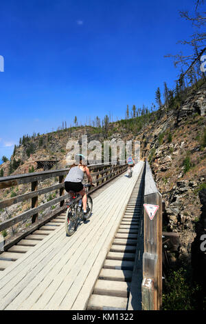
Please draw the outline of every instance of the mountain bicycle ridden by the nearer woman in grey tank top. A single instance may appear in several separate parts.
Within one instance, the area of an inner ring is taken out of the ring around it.
[[[88,194],[89,189],[91,188],[90,184],[84,184],[84,188],[86,189],[87,194],[87,214],[84,215],[82,209],[82,198],[80,194],[76,192],[70,192],[71,201],[67,203],[67,212],[65,216],[65,230],[67,236],[71,236],[74,232],[76,232],[78,225],[80,225],[81,221],[87,221],[91,216],[93,201],[91,196]]]

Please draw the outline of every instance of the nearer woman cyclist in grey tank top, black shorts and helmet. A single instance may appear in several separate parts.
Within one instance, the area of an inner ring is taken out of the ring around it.
[[[78,159],[80,163],[77,162]],[[76,192],[82,196],[83,212],[84,215],[86,215],[89,211],[87,210],[87,194],[85,192],[84,186],[82,185],[84,173],[87,174],[89,182],[91,183],[91,185],[93,185],[89,168],[87,168],[87,165],[85,165],[84,155],[76,154],[76,163],[71,165],[69,173],[65,178],[65,190],[67,192]]]

